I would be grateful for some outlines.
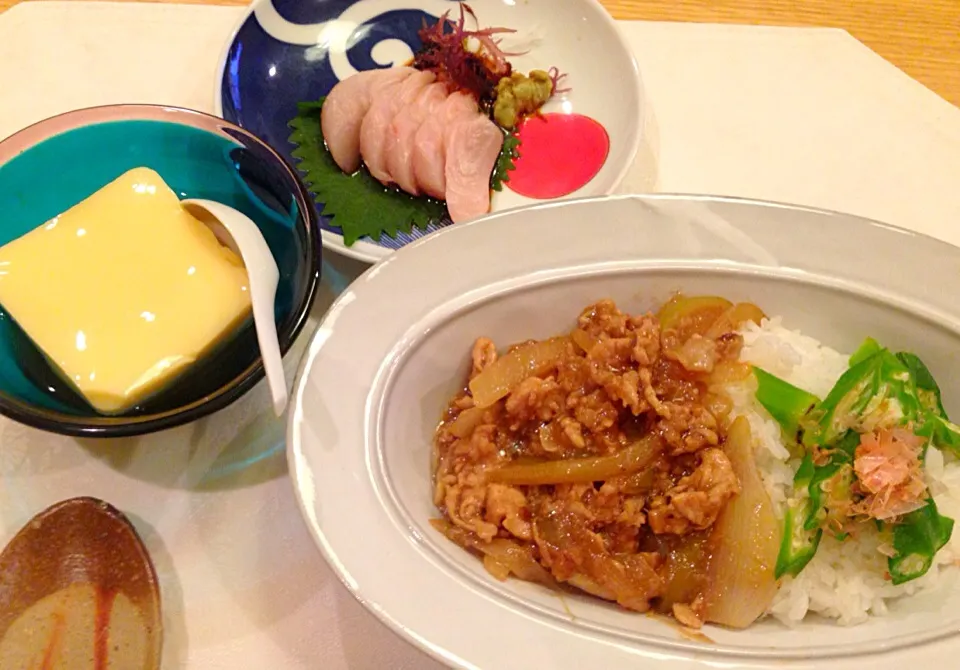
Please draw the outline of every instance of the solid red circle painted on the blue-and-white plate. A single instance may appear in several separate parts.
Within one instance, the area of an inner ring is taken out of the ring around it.
[[[597,176],[610,153],[610,136],[582,114],[541,114],[517,129],[520,158],[506,182],[528,198],[560,198]]]

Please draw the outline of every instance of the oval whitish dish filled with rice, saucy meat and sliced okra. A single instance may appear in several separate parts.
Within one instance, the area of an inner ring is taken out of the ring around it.
[[[711,197],[478,224],[302,365],[292,477],[365,606],[456,667],[950,665],[960,249]]]

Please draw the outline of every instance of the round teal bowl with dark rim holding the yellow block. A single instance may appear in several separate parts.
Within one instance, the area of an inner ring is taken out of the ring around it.
[[[139,166],[156,170],[181,198],[222,202],[257,223],[280,269],[275,316],[285,353],[306,322],[320,278],[316,210],[277,152],[222,119],[115,105],[62,114],[10,136],[0,142],[0,245]],[[160,394],[122,416],[99,415],[0,306],[0,413],[42,430],[120,437],[172,428],[226,407],[263,374],[251,324]]]

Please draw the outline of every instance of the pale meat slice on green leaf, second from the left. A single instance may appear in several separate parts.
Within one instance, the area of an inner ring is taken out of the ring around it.
[[[360,125],[360,156],[370,174],[378,181],[384,184],[394,182],[387,169],[386,160],[391,122],[401,109],[410,104],[436,78],[432,72],[413,70],[413,74],[399,83],[381,86],[372,91],[373,102]]]

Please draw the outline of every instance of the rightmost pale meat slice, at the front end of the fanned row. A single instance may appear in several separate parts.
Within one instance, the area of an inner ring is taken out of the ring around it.
[[[486,116],[455,122],[444,133],[447,210],[455,223],[490,211],[490,175],[503,133]]]

